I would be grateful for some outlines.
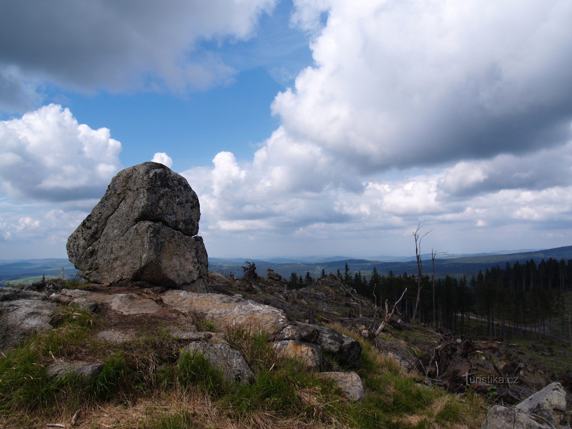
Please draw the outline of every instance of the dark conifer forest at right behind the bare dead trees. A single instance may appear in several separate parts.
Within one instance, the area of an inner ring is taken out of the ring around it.
[[[345,264],[336,276],[345,284],[383,308],[388,300],[394,303],[407,288],[398,305],[400,317],[412,319],[418,291],[418,275],[390,271],[380,275],[374,267],[370,276],[356,272]],[[325,276],[325,271],[322,272]],[[310,285],[305,276],[292,273],[291,288]],[[572,291],[572,259],[549,258],[535,263],[533,259],[504,267],[494,265],[477,275],[459,279],[433,275],[431,261],[423,265],[420,280],[419,309],[415,317],[420,323],[440,325],[451,331],[478,335],[505,336],[529,332],[533,336],[570,339],[570,291]],[[558,331],[554,333],[554,331]]]

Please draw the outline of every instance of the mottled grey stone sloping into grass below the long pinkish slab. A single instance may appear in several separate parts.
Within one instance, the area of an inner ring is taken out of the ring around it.
[[[228,344],[209,344],[203,341],[196,341],[186,345],[183,351],[200,353],[212,366],[223,370],[224,378],[227,380],[246,384],[254,377],[254,373],[244,360],[243,355]]]

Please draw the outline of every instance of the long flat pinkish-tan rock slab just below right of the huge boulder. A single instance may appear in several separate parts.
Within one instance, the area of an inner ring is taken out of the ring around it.
[[[283,311],[235,296],[172,289],[161,297],[164,304],[187,314],[205,317],[223,331],[239,326],[275,333],[289,324]]]

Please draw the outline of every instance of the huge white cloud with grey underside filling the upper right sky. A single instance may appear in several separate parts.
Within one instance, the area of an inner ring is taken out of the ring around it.
[[[272,109],[362,172],[558,145],[572,121],[572,3],[297,0],[316,66]],[[518,10],[517,10],[518,9]]]

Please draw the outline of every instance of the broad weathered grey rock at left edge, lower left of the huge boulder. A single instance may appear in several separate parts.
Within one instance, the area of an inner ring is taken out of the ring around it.
[[[59,305],[39,292],[0,288],[0,352],[17,347],[33,333],[51,329]]]

